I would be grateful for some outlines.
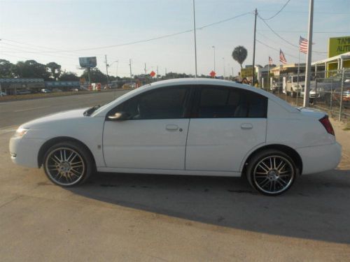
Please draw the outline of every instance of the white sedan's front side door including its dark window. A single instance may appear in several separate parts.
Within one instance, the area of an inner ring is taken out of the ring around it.
[[[183,170],[190,88],[160,87],[111,110],[104,124],[104,159],[111,168]],[[126,120],[109,115],[126,112]]]

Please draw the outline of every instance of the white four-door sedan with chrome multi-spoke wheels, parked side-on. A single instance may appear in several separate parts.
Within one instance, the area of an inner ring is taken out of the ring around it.
[[[10,154],[63,187],[95,171],[246,176],[274,196],[298,175],[335,168],[341,146],[324,112],[235,82],[187,78],[22,124]]]

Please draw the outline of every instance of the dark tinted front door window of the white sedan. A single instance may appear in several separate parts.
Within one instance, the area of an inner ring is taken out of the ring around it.
[[[188,94],[188,87],[155,89],[125,101],[112,113],[127,112],[130,114],[130,119],[183,118]]]

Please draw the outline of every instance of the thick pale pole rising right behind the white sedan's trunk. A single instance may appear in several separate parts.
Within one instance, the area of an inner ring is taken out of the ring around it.
[[[307,39],[307,68],[305,72],[304,108],[309,106],[311,54],[312,54],[312,27],[314,24],[314,0],[309,2],[309,36]]]

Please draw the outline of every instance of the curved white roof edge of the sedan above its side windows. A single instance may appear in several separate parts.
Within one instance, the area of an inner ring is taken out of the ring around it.
[[[266,92],[265,90],[262,90],[256,87],[251,87],[250,85],[240,84],[240,83],[232,82],[228,80],[213,79],[213,78],[176,78],[171,80],[162,80],[158,82],[153,82],[151,84],[143,85],[142,87],[134,89],[131,92],[128,92],[123,96],[120,96],[118,99],[106,105],[106,107],[104,107],[103,110],[99,110],[96,116],[104,115],[104,112],[111,110],[119,103],[123,103],[123,101],[126,101],[127,99],[130,99],[133,96],[137,96],[138,94],[147,92],[152,89],[158,89],[162,87],[171,87],[175,85],[188,85],[190,87],[193,87],[194,85],[220,85],[221,87],[236,87],[239,89],[245,89],[251,92],[261,94],[262,96],[266,96],[268,99],[271,99],[272,101],[281,105],[283,108],[285,108],[289,112],[299,112],[295,107],[293,107],[286,101],[279,99],[279,97],[275,96],[274,94],[271,94],[269,92]]]

